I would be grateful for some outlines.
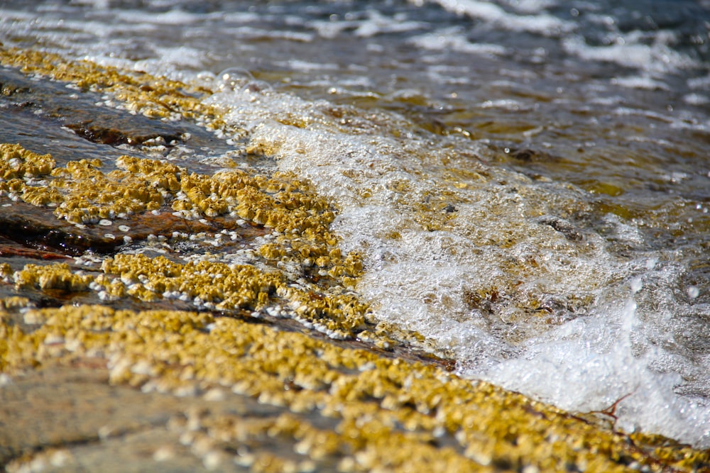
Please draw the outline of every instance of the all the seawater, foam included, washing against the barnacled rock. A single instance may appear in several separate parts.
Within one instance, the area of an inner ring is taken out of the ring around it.
[[[618,428],[698,447],[709,28],[689,0],[0,6],[5,45],[216,90],[247,132],[229,145],[337,205],[376,316],[463,376],[577,411],[621,400]]]

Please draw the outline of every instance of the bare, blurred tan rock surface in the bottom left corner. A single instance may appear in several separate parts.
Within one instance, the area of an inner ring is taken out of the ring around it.
[[[101,359],[48,366],[5,383],[0,389],[0,464],[31,457],[35,469],[50,472],[210,471],[210,462],[225,458],[208,457],[206,465],[184,445],[185,439],[180,441],[181,435],[196,430],[198,418],[264,421],[284,411],[247,396],[205,401],[112,386]],[[273,442],[262,447],[276,454],[284,446]],[[219,471],[249,468],[220,462]]]

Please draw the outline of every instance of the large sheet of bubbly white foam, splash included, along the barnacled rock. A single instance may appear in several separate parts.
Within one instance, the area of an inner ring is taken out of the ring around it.
[[[659,284],[670,287],[680,269],[649,266],[653,257],[617,260],[599,235],[555,216],[560,206],[584,208],[584,194],[481,167],[465,156],[482,148],[419,138],[394,114],[352,109],[341,128],[327,101],[252,95],[224,91],[209,101],[229,108],[226,119],[250,130],[252,144],[273,150],[280,169],[337,204],[333,229],[344,252],[364,255],[357,289],[376,317],[427,336],[465,375],[578,411],[630,394],[616,410],[619,428],[710,442],[708,408],[674,393],[678,374],[650,368],[669,356],[647,340],[663,333],[662,317],[640,324],[635,302],[624,303],[630,286],[634,297],[657,292],[636,274],[665,274]],[[280,116],[311,125],[284,125]],[[643,243],[630,223],[607,223],[620,240]]]

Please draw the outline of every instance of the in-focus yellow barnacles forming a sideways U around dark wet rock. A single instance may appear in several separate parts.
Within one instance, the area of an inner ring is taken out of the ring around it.
[[[39,159],[18,145],[7,148],[27,159]],[[108,221],[110,225],[111,219],[160,211],[170,204],[182,218],[242,219],[271,230],[272,238],[260,243],[257,253],[274,271],[266,274],[249,265],[209,261],[181,265],[165,258],[116,255],[104,261],[106,275],[95,282],[87,275],[72,275],[67,265],[32,266],[18,272],[18,287],[83,291],[93,282],[92,288],[102,299],[126,294],[143,301],[180,298],[217,310],[261,310],[270,298],[271,302],[279,299],[287,307],[283,316],[336,338],[351,337],[364,324],[366,304],[345,289],[362,272],[359,255],[342,255],[337,238],[329,232],[334,212],[309,184],[292,174],[251,176],[234,169],[208,176],[126,155],[117,160],[119,169],[104,174],[99,160],[70,161],[66,167],[52,168],[49,155],[41,158],[50,162],[45,169],[48,179],[37,184],[17,178],[16,195],[35,206],[53,208],[58,218],[72,223]],[[281,274],[279,265],[297,267],[296,276],[310,271],[334,284],[318,286],[315,291],[304,284],[288,284],[294,277]]]

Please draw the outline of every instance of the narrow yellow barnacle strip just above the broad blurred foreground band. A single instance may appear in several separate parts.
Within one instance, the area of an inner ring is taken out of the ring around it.
[[[101,269],[103,274],[94,276],[81,270],[72,272],[66,263],[26,265],[13,274],[13,281],[18,289],[91,289],[103,300],[126,296],[146,302],[180,299],[198,308],[228,313],[240,308],[266,311],[341,339],[352,338],[364,328],[368,311],[357,296],[337,286],[321,291],[305,289],[290,284],[278,271],[264,272],[253,265],[205,260],[182,264],[139,253],[108,257]],[[383,333],[373,340],[385,337]]]

